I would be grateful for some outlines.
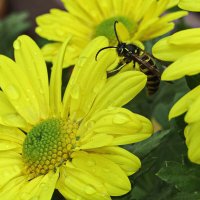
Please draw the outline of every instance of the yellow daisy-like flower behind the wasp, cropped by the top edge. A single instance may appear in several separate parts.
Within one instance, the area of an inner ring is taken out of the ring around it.
[[[52,61],[66,37],[72,35],[65,66],[75,63],[81,50],[96,36],[106,36],[111,45],[116,43],[114,21],[118,20],[118,33],[129,42],[145,41],[173,29],[175,19],[187,14],[178,11],[163,13],[178,4],[177,0],[63,0],[66,11],[52,9],[37,17],[36,32],[55,43],[44,46],[47,61]]]

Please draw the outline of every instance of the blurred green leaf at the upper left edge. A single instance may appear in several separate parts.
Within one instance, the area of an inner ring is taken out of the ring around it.
[[[13,57],[13,41],[30,27],[27,12],[8,15],[0,21],[0,54]]]

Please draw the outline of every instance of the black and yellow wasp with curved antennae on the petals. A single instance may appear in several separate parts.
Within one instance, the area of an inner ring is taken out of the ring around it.
[[[147,84],[146,84],[147,93],[148,95],[153,95],[159,88],[160,77],[161,77],[161,73],[156,67],[155,59],[152,56],[150,56],[147,52],[145,52],[143,49],[136,46],[135,44],[132,43],[127,44],[125,42],[121,42],[119,40],[116,30],[117,23],[118,21],[115,21],[114,23],[115,36],[118,41],[117,46],[107,46],[101,48],[97,52],[95,59],[97,60],[97,56],[101,51],[109,48],[115,48],[118,56],[122,57],[122,60],[118,64],[117,68],[115,68],[112,71],[109,71],[108,73],[118,72],[126,64],[129,64],[130,62],[133,62],[133,68],[135,69],[135,65],[137,63],[139,65],[140,71],[143,72],[145,75],[147,75]]]

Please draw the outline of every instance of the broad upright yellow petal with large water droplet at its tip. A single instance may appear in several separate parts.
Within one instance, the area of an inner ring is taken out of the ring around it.
[[[32,96],[34,93],[39,104],[40,117],[46,119],[49,114],[49,86],[46,64],[41,50],[26,35],[18,37],[13,46],[15,61],[28,77],[32,86],[29,95]]]

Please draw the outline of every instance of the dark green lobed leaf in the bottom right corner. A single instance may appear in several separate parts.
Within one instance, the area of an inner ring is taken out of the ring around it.
[[[200,166],[186,166],[178,162],[165,162],[157,173],[162,180],[174,185],[178,190],[185,192],[199,191]]]

